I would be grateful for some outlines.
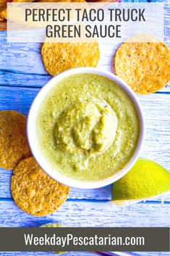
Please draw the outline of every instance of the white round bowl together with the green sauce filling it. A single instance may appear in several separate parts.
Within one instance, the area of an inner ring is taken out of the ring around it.
[[[27,117],[35,160],[51,178],[81,189],[124,176],[140,154],[144,130],[132,89],[116,75],[91,67],[49,80]]]

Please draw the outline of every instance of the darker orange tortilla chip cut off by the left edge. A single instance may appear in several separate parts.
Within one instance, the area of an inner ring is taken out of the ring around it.
[[[30,156],[26,117],[11,110],[0,111],[0,168],[13,169]]]

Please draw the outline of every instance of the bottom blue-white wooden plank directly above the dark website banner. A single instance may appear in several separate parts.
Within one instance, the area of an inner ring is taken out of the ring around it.
[[[20,210],[13,201],[1,200],[0,226],[31,227],[57,222],[82,227],[168,227],[169,207],[169,204],[140,203],[122,208],[106,202],[66,201],[54,214],[35,217]]]

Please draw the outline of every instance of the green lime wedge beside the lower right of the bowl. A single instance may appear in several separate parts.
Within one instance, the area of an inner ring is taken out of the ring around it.
[[[170,191],[170,173],[156,162],[140,158],[129,172],[113,184],[115,205],[132,205]]]

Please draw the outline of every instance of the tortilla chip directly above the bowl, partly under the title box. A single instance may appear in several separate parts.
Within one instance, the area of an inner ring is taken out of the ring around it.
[[[98,43],[44,43],[43,64],[51,75],[73,67],[96,67],[100,58]]]

